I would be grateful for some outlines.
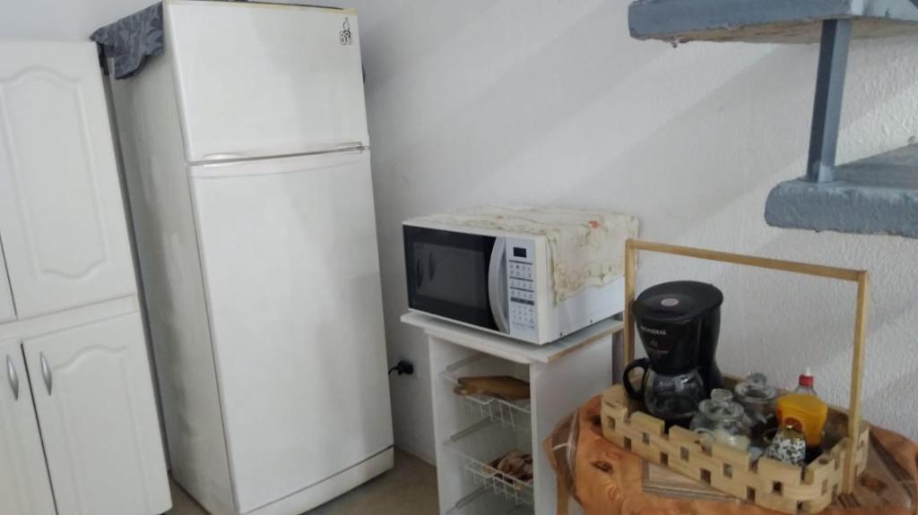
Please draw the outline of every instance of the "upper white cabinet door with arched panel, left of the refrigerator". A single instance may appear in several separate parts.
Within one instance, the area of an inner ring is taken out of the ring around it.
[[[20,317],[135,290],[95,44],[0,42],[0,237]]]

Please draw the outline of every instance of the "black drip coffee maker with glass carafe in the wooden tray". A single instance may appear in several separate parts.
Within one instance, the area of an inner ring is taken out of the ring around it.
[[[629,395],[644,401],[650,414],[669,423],[687,425],[711,389],[722,387],[714,354],[720,332],[723,294],[710,284],[682,280],[644,290],[632,312],[646,358],[624,371]],[[629,375],[644,370],[640,389]]]

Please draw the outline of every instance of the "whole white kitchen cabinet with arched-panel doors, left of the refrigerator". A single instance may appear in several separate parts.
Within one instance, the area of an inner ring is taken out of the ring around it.
[[[169,510],[95,44],[0,41],[0,245],[0,515]]]

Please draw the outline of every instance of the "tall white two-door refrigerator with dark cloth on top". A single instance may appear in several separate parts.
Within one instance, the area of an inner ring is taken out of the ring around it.
[[[393,459],[356,12],[163,10],[111,88],[172,474],[301,513]]]

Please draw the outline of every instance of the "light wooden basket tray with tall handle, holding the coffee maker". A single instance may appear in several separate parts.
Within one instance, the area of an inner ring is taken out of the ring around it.
[[[713,444],[710,451],[705,451],[701,447],[700,436],[683,428],[673,427],[667,433],[663,421],[634,411],[624,389],[616,385],[603,392],[602,431],[606,439],[644,459],[709,483],[713,488],[737,498],[784,513],[815,513],[831,504],[836,495],[852,493],[857,475],[867,466],[869,448],[869,426],[860,420],[860,384],[870,284],[867,271],[629,239],[625,243],[625,363],[630,363],[634,356],[631,304],[639,250],[856,282],[850,404],[846,414],[845,411],[831,409],[829,416],[830,421],[842,421],[846,436],[806,467],[789,466],[766,457],[753,463],[748,453],[726,445]]]

